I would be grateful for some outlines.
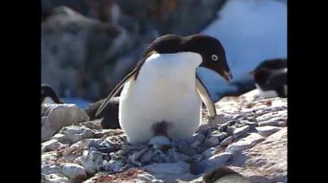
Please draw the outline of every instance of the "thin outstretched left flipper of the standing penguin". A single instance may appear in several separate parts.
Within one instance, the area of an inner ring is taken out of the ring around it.
[[[108,103],[110,103],[111,98],[114,97],[127,82],[129,82],[132,78],[134,78],[136,73],[137,70],[134,69],[115,86],[115,88],[111,91],[111,93],[104,99],[103,103],[101,103],[101,105],[99,106],[96,112],[96,117],[105,109]]]

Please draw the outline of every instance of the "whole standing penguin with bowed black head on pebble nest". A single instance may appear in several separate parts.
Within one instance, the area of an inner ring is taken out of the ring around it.
[[[200,34],[158,37],[96,115],[123,88],[119,124],[129,143],[142,143],[156,135],[191,137],[201,120],[201,100],[210,118],[216,116],[209,92],[196,75],[198,67],[211,69],[228,81],[232,79],[226,53],[216,38]]]

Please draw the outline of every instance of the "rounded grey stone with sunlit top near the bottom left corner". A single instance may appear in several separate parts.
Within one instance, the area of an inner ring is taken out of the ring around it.
[[[82,181],[87,178],[87,172],[84,167],[77,164],[65,164],[61,172],[74,181]]]

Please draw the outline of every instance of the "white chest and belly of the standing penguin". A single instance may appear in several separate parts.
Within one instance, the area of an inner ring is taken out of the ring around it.
[[[191,52],[153,54],[145,61],[120,95],[119,123],[130,143],[148,141],[160,123],[167,126],[157,128],[166,128],[171,139],[193,135],[201,117],[195,86],[200,63],[201,56]]]

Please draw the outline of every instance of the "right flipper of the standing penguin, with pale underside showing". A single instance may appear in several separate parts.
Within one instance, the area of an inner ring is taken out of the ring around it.
[[[197,75],[196,75],[196,90],[201,100],[205,104],[207,110],[209,111],[210,118],[211,119],[215,118],[216,109],[211,100],[210,94]]]

